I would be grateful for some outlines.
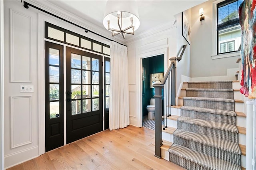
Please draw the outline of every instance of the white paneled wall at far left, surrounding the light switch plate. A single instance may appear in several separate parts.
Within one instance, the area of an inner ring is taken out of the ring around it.
[[[4,163],[38,156],[38,16],[4,1]],[[33,85],[33,93],[20,93]]]

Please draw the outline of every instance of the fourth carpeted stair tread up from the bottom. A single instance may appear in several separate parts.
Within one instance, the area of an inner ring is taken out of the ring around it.
[[[187,111],[197,111],[202,113],[212,113],[217,115],[236,116],[236,112],[234,111],[226,111],[221,109],[210,109],[210,108],[194,107],[194,106],[182,106],[180,109],[187,110]]]

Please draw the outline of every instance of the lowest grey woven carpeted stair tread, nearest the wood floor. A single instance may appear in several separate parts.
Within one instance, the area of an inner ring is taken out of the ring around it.
[[[170,152],[170,155],[174,154],[176,156],[189,160],[189,162],[199,164],[202,167],[205,167],[204,169],[211,169],[211,170],[240,170],[241,169],[240,166],[236,164],[232,164],[231,162],[222,160],[220,158],[216,158],[214,156],[210,156],[208,154],[204,154],[202,152],[198,152],[196,150],[193,150],[175,143],[172,144],[168,152]],[[170,161],[172,160],[170,159]]]

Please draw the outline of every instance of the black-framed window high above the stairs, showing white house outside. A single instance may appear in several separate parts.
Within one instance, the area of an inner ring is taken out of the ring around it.
[[[243,0],[225,0],[217,4],[217,54],[238,51],[241,27],[238,8]]]

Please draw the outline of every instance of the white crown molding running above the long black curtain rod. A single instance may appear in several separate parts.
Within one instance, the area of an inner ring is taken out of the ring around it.
[[[34,6],[37,6],[38,8],[41,8],[43,10],[46,10],[52,14],[55,14],[56,16],[59,16],[66,20],[69,20],[69,21],[73,22],[74,24],[82,26],[92,32],[95,32],[95,33],[100,34],[106,38],[109,38],[110,40],[114,40],[116,42],[123,43],[123,44],[125,43],[124,39],[122,39],[122,38],[119,38],[119,37],[113,38],[112,36],[108,36],[108,35],[111,35],[108,30],[100,28],[99,26],[92,24],[91,22],[88,22],[87,20],[81,18],[80,16],[76,16],[66,10],[63,10],[59,6],[56,6],[55,4],[52,4],[51,2],[49,2],[47,0],[26,0],[26,2],[33,4]],[[39,10],[38,10],[38,12],[41,13],[41,11],[39,11]]]

